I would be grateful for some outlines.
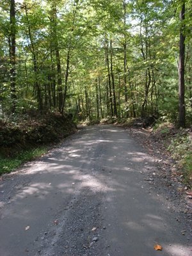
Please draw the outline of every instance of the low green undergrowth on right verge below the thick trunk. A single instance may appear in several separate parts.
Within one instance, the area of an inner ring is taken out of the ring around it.
[[[192,187],[192,131],[177,129],[171,123],[156,124],[154,136],[163,141],[170,155],[175,159],[177,175]]]

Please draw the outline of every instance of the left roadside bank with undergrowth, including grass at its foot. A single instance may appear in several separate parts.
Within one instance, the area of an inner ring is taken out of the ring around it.
[[[48,147],[77,131],[68,115],[47,113],[0,119],[0,175],[42,156]]]

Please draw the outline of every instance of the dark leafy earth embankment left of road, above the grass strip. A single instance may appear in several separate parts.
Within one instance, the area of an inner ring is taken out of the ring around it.
[[[10,156],[19,150],[56,143],[76,129],[70,116],[59,113],[0,120],[0,154]]]

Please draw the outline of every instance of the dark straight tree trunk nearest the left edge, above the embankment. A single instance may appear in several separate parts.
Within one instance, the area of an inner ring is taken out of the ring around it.
[[[16,20],[15,20],[15,0],[10,1],[10,86],[12,98],[12,113],[16,108]]]

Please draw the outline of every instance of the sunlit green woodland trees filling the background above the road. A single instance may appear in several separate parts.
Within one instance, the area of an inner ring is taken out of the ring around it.
[[[192,120],[189,0],[4,0],[0,115]]]

